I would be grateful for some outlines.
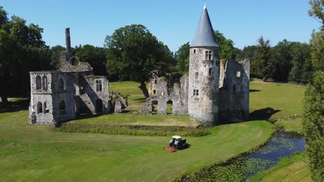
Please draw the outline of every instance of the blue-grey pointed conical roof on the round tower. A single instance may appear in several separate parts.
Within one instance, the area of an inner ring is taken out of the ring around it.
[[[190,47],[218,47],[206,5],[204,6],[204,10],[201,13],[195,38],[191,42]]]

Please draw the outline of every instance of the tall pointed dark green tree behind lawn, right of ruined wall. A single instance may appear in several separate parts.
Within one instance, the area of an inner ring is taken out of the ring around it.
[[[273,77],[273,68],[275,67],[275,59],[271,54],[269,40],[260,37],[257,47],[258,50],[255,52],[254,60],[251,63],[251,75],[267,81],[267,79]]]

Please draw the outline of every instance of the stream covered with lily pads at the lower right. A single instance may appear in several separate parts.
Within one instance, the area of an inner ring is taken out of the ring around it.
[[[222,165],[202,169],[182,181],[246,181],[262,170],[276,165],[282,157],[305,150],[305,139],[295,132],[277,131],[261,148]]]

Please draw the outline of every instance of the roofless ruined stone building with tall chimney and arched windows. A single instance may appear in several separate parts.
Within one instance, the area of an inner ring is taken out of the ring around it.
[[[60,65],[57,71],[30,72],[30,123],[57,125],[75,119],[80,113],[111,112],[109,81],[103,76],[93,76],[89,63],[71,56],[69,28]]]

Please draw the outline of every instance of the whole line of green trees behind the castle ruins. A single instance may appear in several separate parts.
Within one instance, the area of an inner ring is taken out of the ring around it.
[[[7,97],[28,96],[29,74],[35,70],[57,70],[60,67],[61,45],[50,48],[42,39],[43,29],[26,20],[12,16],[0,7],[0,90]],[[314,66],[309,43],[280,41],[271,47],[269,40],[260,37],[255,45],[242,50],[235,48],[231,39],[215,31],[222,60],[251,60],[251,77],[264,81],[292,81],[309,83]],[[145,26],[130,25],[107,35],[103,48],[79,45],[72,54],[93,67],[95,75],[106,75],[111,81],[131,80],[140,83],[145,97],[149,97],[145,82],[155,76],[177,76],[188,72],[190,45],[184,43],[171,52]]]

